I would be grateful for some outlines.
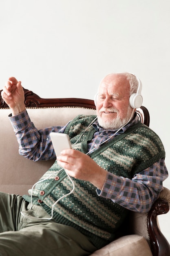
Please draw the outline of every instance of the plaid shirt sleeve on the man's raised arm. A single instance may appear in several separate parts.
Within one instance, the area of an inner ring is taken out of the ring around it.
[[[53,126],[38,130],[31,122],[26,110],[11,116],[9,120],[18,140],[19,153],[33,161],[55,159],[50,132],[64,132],[66,126]]]

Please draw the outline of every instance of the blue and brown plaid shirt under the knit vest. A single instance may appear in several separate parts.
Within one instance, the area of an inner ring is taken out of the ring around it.
[[[64,132],[66,126],[54,126],[37,130],[31,122],[26,110],[14,117],[9,116],[19,143],[19,153],[33,161],[55,159],[56,155],[50,139],[50,132]],[[114,137],[125,132],[128,127],[136,124],[136,116],[129,124],[124,126]],[[88,143],[88,150],[94,151],[98,146],[111,137],[116,130],[105,130],[99,127],[97,121],[93,123],[95,133],[92,141]],[[112,139],[114,139],[112,137]],[[163,189],[162,182],[168,177],[164,159],[149,168],[134,175],[132,180],[107,173],[102,191],[97,194],[120,204],[121,206],[137,212],[149,211],[153,201],[157,199]]]

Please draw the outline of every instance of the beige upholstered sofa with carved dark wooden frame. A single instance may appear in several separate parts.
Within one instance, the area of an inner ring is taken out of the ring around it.
[[[95,114],[93,100],[42,99],[26,89],[24,93],[27,111],[38,129],[56,124],[64,125],[79,114]],[[141,106],[136,112],[141,122],[149,126],[148,110]],[[54,161],[32,162],[18,154],[18,143],[8,120],[9,114],[10,109],[0,96],[0,190],[22,195],[27,193]],[[124,236],[97,250],[91,256],[170,255],[170,245],[161,233],[157,220],[157,216],[167,213],[169,208],[170,191],[164,188],[149,213],[140,214],[130,211],[124,223]]]

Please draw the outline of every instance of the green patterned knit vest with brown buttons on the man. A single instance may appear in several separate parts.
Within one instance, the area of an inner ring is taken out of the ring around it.
[[[95,116],[78,116],[68,124],[65,133],[71,138],[71,144],[79,139],[73,145],[74,149],[88,152],[87,141],[91,141],[95,129],[90,126],[83,132],[94,118]],[[102,144],[90,157],[108,172],[131,179],[135,173],[165,157],[165,151],[155,132],[138,122],[124,133]],[[55,201],[69,193],[73,187],[64,170],[56,173],[60,169],[55,161],[40,180],[49,175],[51,177],[37,184],[33,190],[33,203],[38,204],[38,199],[42,200],[41,205],[49,214]],[[56,179],[56,176],[59,179]],[[127,210],[110,199],[98,196],[96,187],[90,182],[72,179],[75,190],[55,205],[53,218],[58,223],[75,227],[100,248],[108,243],[106,241],[115,239]],[[45,193],[42,195],[41,191]],[[24,198],[30,201],[28,196],[25,195]]]

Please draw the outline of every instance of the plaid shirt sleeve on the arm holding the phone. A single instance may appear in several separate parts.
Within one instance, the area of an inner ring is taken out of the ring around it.
[[[97,194],[131,211],[148,212],[168,177],[164,159],[134,175],[132,180],[108,173],[102,191]]]

